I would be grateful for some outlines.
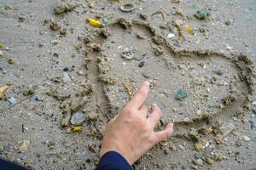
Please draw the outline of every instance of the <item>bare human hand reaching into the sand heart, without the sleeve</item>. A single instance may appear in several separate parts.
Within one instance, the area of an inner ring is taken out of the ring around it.
[[[143,86],[131,101],[108,122],[102,141],[101,156],[108,151],[116,151],[133,164],[154,144],[171,136],[172,123],[168,123],[163,131],[154,132],[162,112],[156,104],[153,104],[152,113],[147,116],[148,106],[144,105],[144,101],[148,97],[148,91],[149,82],[143,82]]]

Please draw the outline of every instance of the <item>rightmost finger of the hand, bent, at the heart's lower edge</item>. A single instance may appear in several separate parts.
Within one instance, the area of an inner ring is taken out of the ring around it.
[[[170,122],[167,124],[165,130],[158,131],[158,132],[154,133],[153,138],[154,138],[155,144],[157,144],[165,139],[168,139],[172,135],[172,132],[173,132],[173,123]]]

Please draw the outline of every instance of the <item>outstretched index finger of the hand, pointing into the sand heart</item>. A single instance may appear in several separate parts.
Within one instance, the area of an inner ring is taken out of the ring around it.
[[[149,82],[143,82],[143,86],[137,91],[131,101],[127,104],[127,107],[139,109],[145,100],[148,98]]]

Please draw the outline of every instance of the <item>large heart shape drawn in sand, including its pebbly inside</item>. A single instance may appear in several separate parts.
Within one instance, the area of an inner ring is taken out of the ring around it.
[[[122,57],[127,49],[134,55],[131,59]],[[97,71],[93,66],[95,71],[89,72],[98,76],[93,74],[89,79],[99,84],[96,98],[99,105],[105,105],[103,111],[112,109],[108,119],[131,99],[141,82],[149,79],[152,89],[147,103],[160,105],[164,113],[161,121],[174,122],[180,129],[177,136],[208,119],[234,115],[244,109],[247,95],[254,94],[252,62],[246,56],[179,50],[154,27],[138,20],[119,19],[97,30],[96,36],[86,41],[85,55],[97,65]],[[141,68],[142,61],[145,65]],[[177,100],[178,89],[184,89],[188,96]]]

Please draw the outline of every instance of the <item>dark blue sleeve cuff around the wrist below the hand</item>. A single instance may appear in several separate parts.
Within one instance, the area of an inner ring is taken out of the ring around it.
[[[132,168],[118,152],[109,151],[102,156],[96,170],[132,170]]]

